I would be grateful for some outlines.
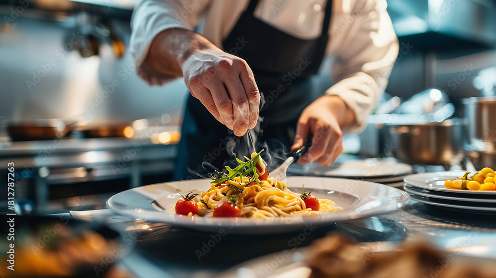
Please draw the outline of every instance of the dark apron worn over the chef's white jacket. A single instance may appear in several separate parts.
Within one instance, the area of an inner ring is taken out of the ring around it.
[[[258,0],[249,2],[223,47],[248,62],[265,100],[260,109],[263,122],[257,146],[272,151],[289,150],[298,118],[320,95],[310,76],[318,71],[325,54],[332,2],[328,0],[325,7],[321,35],[313,40],[288,35],[256,18],[253,12],[257,3]],[[237,146],[246,145],[245,139],[234,136],[191,95],[187,97],[181,133],[174,180],[197,178],[188,167],[206,176],[210,170],[205,169],[205,163],[222,169],[225,162],[233,158],[226,151],[232,139]]]

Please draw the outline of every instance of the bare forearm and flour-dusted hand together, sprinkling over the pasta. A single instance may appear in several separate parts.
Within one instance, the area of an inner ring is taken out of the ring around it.
[[[145,62],[165,75],[184,76],[191,95],[235,135],[255,127],[260,94],[245,60],[198,33],[173,28],[153,39]]]

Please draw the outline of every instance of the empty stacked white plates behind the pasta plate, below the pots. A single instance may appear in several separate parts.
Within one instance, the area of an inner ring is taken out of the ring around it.
[[[381,183],[392,187],[403,187],[403,179],[412,173],[412,166],[399,163],[395,158],[369,158],[359,160],[339,160],[330,166],[319,163],[293,163],[290,175],[348,178]]]

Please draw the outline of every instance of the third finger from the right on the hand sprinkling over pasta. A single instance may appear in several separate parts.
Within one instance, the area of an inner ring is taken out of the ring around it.
[[[206,86],[212,94],[222,122],[228,129],[233,130],[233,103],[227,94],[224,83],[219,79],[212,79]]]

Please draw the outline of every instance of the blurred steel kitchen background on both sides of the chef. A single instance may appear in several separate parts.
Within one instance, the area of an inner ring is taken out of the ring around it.
[[[171,179],[187,91],[182,79],[150,87],[136,75],[136,2],[0,0],[0,165],[15,162],[19,211],[98,209],[115,192]],[[361,157],[401,156],[378,132],[389,112],[435,123],[465,117],[462,98],[495,95],[495,0],[387,2],[400,54],[368,140],[345,140]],[[454,156],[407,162],[449,167]]]

